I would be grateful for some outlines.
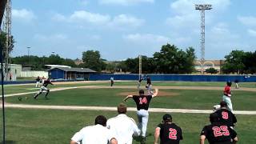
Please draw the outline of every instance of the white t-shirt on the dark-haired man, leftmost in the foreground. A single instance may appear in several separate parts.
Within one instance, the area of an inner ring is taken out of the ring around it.
[[[86,126],[71,138],[74,142],[82,141],[82,144],[107,144],[114,138],[106,127],[102,125]]]

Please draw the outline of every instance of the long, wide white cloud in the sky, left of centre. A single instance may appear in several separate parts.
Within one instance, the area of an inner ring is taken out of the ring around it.
[[[91,26],[102,26],[106,28],[122,29],[122,28],[135,28],[142,26],[145,22],[144,19],[136,18],[127,14],[119,14],[118,16],[111,17],[107,14],[95,14],[86,10],[74,11],[70,16],[62,14],[54,14],[52,17],[54,21],[77,23],[79,27],[85,27],[88,24]]]

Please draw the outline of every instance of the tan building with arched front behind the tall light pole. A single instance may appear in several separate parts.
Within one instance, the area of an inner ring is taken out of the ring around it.
[[[204,71],[209,68],[214,68],[215,70],[218,70],[218,73],[220,73],[223,64],[224,60],[206,60],[204,63]],[[194,68],[196,71],[201,72],[202,67],[200,60],[194,62]]]

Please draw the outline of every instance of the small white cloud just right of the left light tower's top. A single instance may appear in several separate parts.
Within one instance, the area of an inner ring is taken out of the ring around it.
[[[36,18],[33,11],[26,10],[26,9],[22,9],[22,10],[13,9],[11,14],[14,20],[18,20],[22,22],[31,22]]]

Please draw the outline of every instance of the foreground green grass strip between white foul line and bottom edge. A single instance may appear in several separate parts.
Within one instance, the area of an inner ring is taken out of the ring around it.
[[[111,118],[116,112],[90,110],[6,110],[6,140],[12,144],[69,143],[73,134],[83,126],[93,125],[99,115]],[[146,143],[154,142],[154,128],[164,113],[150,113]],[[128,115],[137,121],[136,114]],[[202,127],[207,125],[209,114],[172,114],[174,122],[182,127],[182,144],[198,143]],[[255,143],[256,116],[238,115],[235,130],[242,144]],[[1,123],[2,124],[2,123]],[[139,143],[134,139],[134,143]]]

